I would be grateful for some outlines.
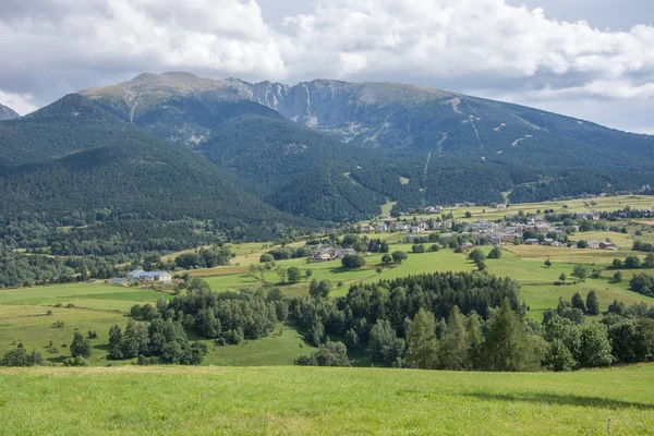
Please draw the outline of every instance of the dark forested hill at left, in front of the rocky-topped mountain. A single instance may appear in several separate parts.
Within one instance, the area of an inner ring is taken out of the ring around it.
[[[239,177],[72,95],[0,124],[0,219],[95,225],[207,220],[234,238],[316,223],[281,214]],[[100,217],[100,218],[98,218]]]

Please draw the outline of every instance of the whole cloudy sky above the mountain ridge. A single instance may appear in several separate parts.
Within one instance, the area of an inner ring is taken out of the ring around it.
[[[142,72],[405,82],[654,134],[651,0],[1,0],[0,104]]]

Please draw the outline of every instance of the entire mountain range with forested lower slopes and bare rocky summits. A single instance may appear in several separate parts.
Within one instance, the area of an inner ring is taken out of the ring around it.
[[[189,218],[269,238],[387,202],[642,191],[653,158],[652,136],[414,85],[141,74],[0,122],[0,218]]]

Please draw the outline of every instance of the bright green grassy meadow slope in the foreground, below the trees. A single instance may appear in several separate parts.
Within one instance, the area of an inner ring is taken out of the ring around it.
[[[654,366],[0,371],[0,434],[654,434]],[[62,413],[65,411],[65,413]]]

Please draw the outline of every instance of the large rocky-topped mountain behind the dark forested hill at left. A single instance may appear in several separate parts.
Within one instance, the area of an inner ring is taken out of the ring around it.
[[[652,136],[414,85],[317,80],[287,86],[165,73],[81,94],[199,150],[253,182],[269,203],[318,219],[371,215],[376,206],[363,205],[364,194],[377,206],[398,201],[405,210],[498,202],[506,192],[520,203],[639,191],[652,183],[654,169]],[[338,196],[335,208],[347,210],[307,204],[320,195],[301,182],[306,173]],[[348,197],[339,187],[344,182],[359,193]]]

